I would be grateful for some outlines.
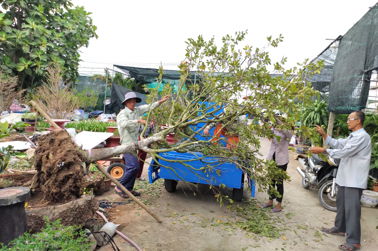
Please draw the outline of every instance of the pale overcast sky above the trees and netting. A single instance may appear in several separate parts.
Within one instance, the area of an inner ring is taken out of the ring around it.
[[[81,48],[81,67],[135,67],[177,69],[185,58],[187,38],[205,40],[248,30],[243,44],[263,47],[268,36],[284,36],[270,51],[274,62],[288,58],[287,68],[312,59],[331,41],[344,35],[376,2],[318,1],[121,1],[73,0],[92,12],[98,39]],[[80,68],[81,74],[102,69]]]

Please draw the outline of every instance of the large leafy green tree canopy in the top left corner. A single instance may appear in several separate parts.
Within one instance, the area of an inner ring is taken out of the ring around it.
[[[0,0],[0,68],[19,76],[21,88],[41,82],[45,69],[58,64],[75,82],[79,49],[97,38],[91,13],[68,0]],[[4,11],[5,10],[5,11]]]

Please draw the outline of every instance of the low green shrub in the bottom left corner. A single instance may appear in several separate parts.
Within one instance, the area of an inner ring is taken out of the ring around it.
[[[84,236],[83,231],[77,231],[77,226],[64,226],[60,219],[50,223],[45,216],[46,227],[40,233],[28,232],[11,241],[14,244],[7,248],[0,243],[0,251],[28,251],[28,250],[91,250],[91,242]]]

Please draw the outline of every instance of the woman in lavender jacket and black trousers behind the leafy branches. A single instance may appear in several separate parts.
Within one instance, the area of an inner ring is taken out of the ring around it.
[[[280,136],[281,140],[278,141],[275,137],[272,138],[272,142],[270,145],[270,150],[268,154],[268,160],[273,158],[274,161],[277,163],[277,168],[286,172],[287,164],[289,163],[289,143],[292,137],[292,131],[285,131],[281,130],[278,131],[276,128],[271,129],[272,133]],[[273,207],[273,200],[277,200],[277,206],[273,208],[271,211],[277,213],[282,209],[282,197],[283,197],[283,179],[278,179],[277,183],[276,180],[272,181],[272,187],[277,186],[277,191],[281,195],[280,198],[276,197],[275,195],[269,196],[269,201],[267,204],[264,204],[262,207]]]

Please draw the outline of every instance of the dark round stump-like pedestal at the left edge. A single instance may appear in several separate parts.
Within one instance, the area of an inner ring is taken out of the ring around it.
[[[29,197],[27,187],[0,190],[0,242],[8,244],[28,230],[25,201]]]

